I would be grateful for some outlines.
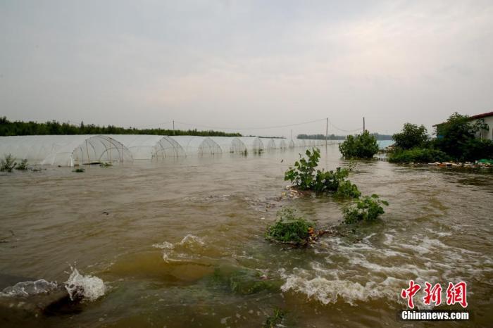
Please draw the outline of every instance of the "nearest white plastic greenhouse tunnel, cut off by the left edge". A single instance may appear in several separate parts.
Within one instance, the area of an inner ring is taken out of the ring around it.
[[[127,147],[102,135],[0,137],[0,156],[7,154],[32,164],[61,166],[132,160]]]

